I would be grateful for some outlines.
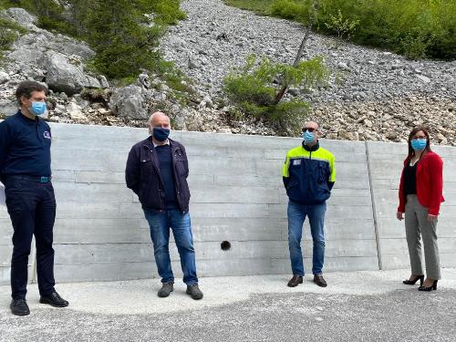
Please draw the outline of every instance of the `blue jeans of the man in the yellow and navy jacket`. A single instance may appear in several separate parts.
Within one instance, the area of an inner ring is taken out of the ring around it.
[[[293,275],[304,275],[301,239],[306,216],[309,218],[310,233],[312,233],[314,241],[312,273],[314,275],[322,273],[325,261],[325,212],[326,203],[306,205],[292,201],[288,202],[288,247],[290,249]]]

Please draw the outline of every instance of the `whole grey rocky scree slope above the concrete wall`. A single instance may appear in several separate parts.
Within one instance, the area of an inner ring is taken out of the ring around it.
[[[264,122],[230,119],[220,100],[222,80],[251,53],[291,62],[304,29],[296,23],[223,5],[221,0],[186,0],[188,18],[162,38],[165,56],[193,79],[186,104],[154,75],[116,88],[87,70],[93,51],[84,43],[35,26],[22,9],[2,16],[26,26],[0,64],[0,114],[16,111],[14,90],[24,79],[51,89],[48,119],[105,125],[143,126],[149,111],[166,110],[181,130],[275,134]],[[327,89],[291,89],[313,104],[311,119],[324,135],[342,140],[403,141],[419,124],[430,126],[434,143],[456,146],[456,61],[411,61],[389,52],[337,43],[312,35],[306,57],[326,58]]]

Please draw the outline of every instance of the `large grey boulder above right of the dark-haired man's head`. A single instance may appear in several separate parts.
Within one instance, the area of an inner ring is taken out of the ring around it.
[[[82,88],[101,88],[97,78],[84,72],[82,63],[73,61],[60,53],[47,53],[43,60],[47,69],[47,86],[56,92],[65,92],[71,96]]]

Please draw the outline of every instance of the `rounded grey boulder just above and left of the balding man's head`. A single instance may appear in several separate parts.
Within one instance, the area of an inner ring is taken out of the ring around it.
[[[109,109],[122,118],[148,119],[147,90],[131,85],[114,90],[109,100]]]

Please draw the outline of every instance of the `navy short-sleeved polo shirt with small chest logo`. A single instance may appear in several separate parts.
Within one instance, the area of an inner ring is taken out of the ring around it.
[[[19,110],[0,123],[0,181],[8,175],[51,175],[51,130]]]

